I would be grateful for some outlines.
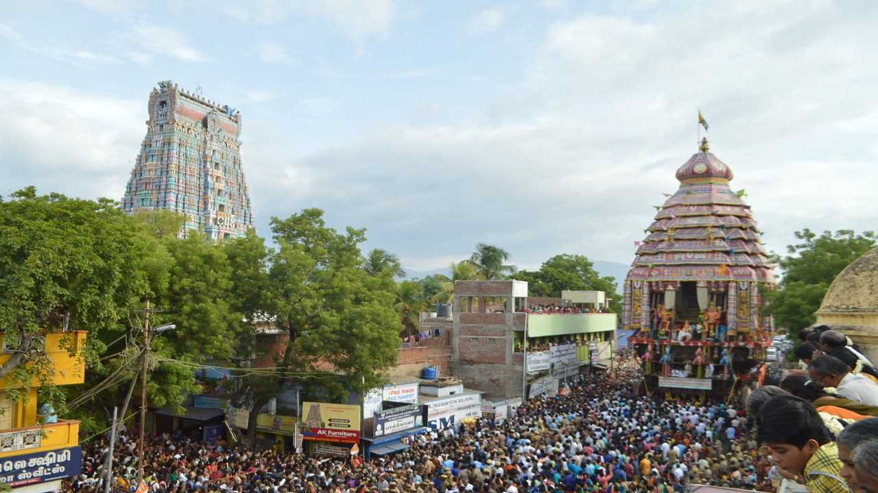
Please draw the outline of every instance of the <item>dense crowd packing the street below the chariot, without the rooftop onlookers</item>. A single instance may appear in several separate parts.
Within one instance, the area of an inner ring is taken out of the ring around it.
[[[659,491],[688,482],[771,489],[774,470],[743,411],[635,397],[639,375],[583,377],[566,396],[540,397],[494,425],[428,432],[387,459],[358,462],[254,452],[168,436],[148,444],[152,491]],[[107,443],[86,444],[71,491],[97,491]],[[116,449],[117,490],[131,490],[136,443]]]

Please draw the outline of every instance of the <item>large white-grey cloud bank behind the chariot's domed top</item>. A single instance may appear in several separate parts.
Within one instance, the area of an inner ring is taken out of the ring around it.
[[[558,253],[630,262],[696,150],[701,107],[768,249],[803,227],[874,229],[878,69],[857,60],[878,44],[876,20],[838,4],[583,15],[551,25],[521,85],[471,118],[388,125],[277,163],[308,177],[295,195],[270,166],[251,175],[265,174],[260,193],[277,211],[332,211],[418,268],[477,241],[521,265]]]

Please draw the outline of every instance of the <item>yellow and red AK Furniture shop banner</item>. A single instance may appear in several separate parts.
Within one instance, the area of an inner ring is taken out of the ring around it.
[[[360,406],[302,404],[302,435],[306,440],[356,443],[360,441]]]

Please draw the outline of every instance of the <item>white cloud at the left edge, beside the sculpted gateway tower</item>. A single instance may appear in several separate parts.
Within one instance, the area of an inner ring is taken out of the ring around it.
[[[119,200],[146,126],[142,101],[100,97],[64,86],[0,79],[0,173],[8,193],[40,191]]]

